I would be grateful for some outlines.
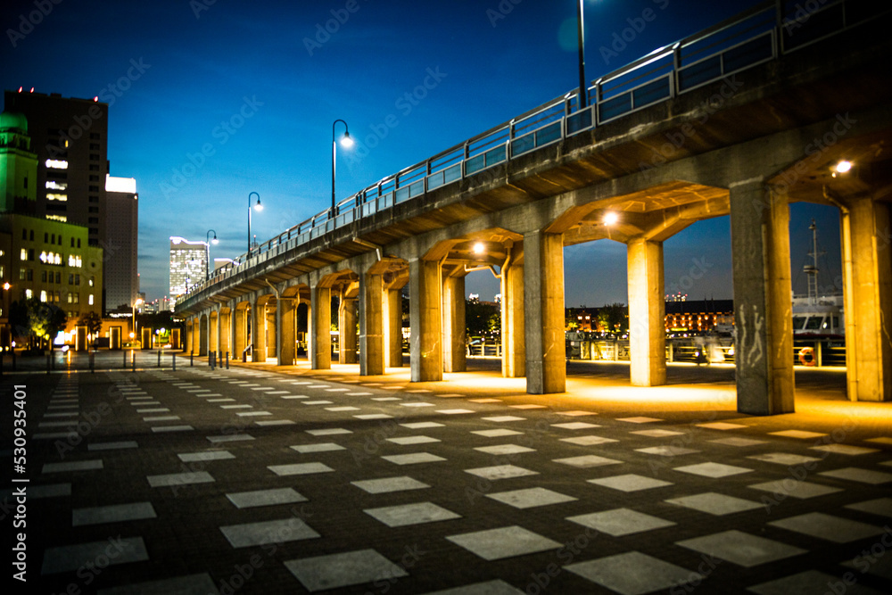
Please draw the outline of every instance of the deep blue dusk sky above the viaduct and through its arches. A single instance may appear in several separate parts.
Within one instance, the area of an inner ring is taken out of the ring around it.
[[[587,78],[751,4],[586,0]],[[52,10],[32,18],[37,25],[23,25],[39,5]],[[136,178],[141,289],[151,300],[168,292],[169,236],[203,240],[214,229],[220,244],[211,246],[211,258],[245,251],[250,192],[265,207],[252,218],[260,242],[326,210],[336,119],[346,120],[359,141],[351,151],[339,149],[340,201],[576,87],[575,6],[573,0],[6,2],[0,76],[4,89],[99,95],[110,103],[111,175]],[[645,10],[651,21],[640,18]],[[335,32],[326,32],[326,24]],[[624,32],[632,40],[607,54],[602,48]],[[836,212],[793,205],[797,291],[805,290],[797,270],[812,217],[819,219],[830,268],[838,269]],[[729,230],[727,218],[700,222],[665,243],[667,293],[674,284],[691,299],[731,297]],[[570,247],[565,260],[567,305],[626,302],[623,244]],[[689,275],[691,268],[702,269],[699,278]],[[467,289],[491,300],[498,285],[489,273],[475,273]]]

